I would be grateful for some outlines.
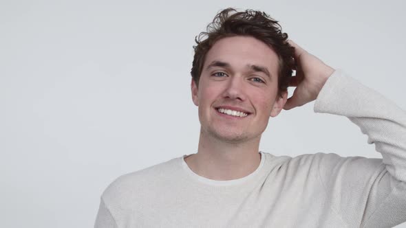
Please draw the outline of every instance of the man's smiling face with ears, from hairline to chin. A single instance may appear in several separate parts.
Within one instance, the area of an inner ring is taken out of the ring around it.
[[[222,141],[260,139],[269,117],[283,108],[277,96],[278,57],[268,45],[248,36],[217,41],[206,55],[199,87],[192,80],[202,133]]]

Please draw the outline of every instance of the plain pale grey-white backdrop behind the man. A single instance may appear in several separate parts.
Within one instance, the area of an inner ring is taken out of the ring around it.
[[[92,227],[116,177],[195,153],[192,46],[230,6],[406,109],[403,1],[0,0],[0,226]],[[261,150],[381,157],[313,104],[271,119]]]

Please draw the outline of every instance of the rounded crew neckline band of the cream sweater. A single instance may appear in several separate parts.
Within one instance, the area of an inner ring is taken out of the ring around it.
[[[228,186],[228,185],[237,185],[240,183],[244,183],[250,179],[253,179],[254,176],[257,176],[257,174],[261,170],[262,166],[264,166],[265,159],[266,159],[266,155],[264,154],[264,152],[259,151],[259,153],[261,153],[261,161],[259,162],[259,166],[257,167],[256,170],[254,170],[254,172],[251,172],[250,174],[248,174],[247,176],[244,176],[242,178],[227,180],[227,181],[217,181],[217,180],[208,179],[204,176],[200,176],[200,175],[196,174],[195,172],[193,172],[193,170],[191,170],[191,168],[189,168],[189,166],[187,165],[186,161],[184,161],[184,158],[189,155],[183,155],[182,157],[180,157],[180,161],[182,163],[183,170],[186,171],[186,173],[189,176],[191,176],[192,179],[199,181],[201,183],[206,183],[208,185]]]

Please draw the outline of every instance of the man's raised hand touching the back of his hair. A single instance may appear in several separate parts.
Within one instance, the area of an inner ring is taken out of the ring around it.
[[[297,88],[286,102],[285,110],[316,100],[321,88],[334,72],[332,67],[325,65],[323,61],[306,52],[293,41],[288,41],[288,43],[295,47],[296,62],[296,76],[290,79],[289,87]]]

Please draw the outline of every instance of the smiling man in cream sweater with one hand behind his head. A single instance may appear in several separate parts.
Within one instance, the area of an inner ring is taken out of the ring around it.
[[[262,12],[223,10],[203,35],[191,71],[197,153],[120,176],[103,193],[95,227],[392,227],[406,220],[404,111],[288,41]],[[289,99],[288,86],[297,87]],[[312,100],[314,111],[357,124],[383,159],[259,152],[269,117]]]

